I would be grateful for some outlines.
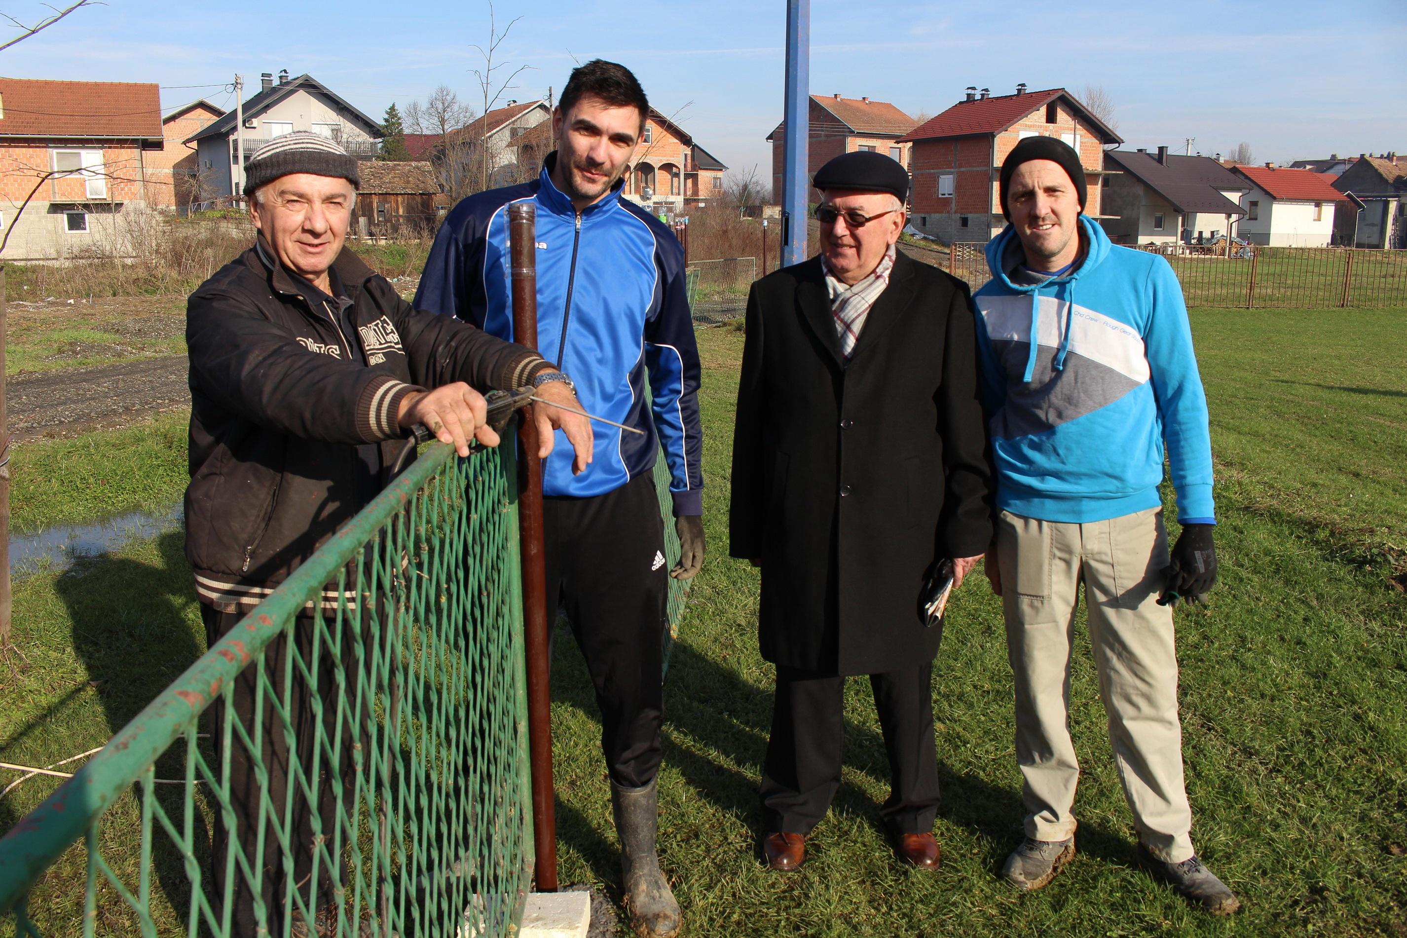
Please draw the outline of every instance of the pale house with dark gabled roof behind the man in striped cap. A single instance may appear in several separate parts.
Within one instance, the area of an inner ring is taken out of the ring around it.
[[[293,131],[312,131],[335,139],[357,159],[376,156],[381,125],[348,104],[322,83],[308,75],[288,77],[287,69],[259,76],[260,87],[243,105],[245,163],[259,148]],[[235,188],[243,173],[236,172],[235,127],[238,113],[231,110],[210,125],[186,138],[196,146],[198,167],[210,174],[210,188],[218,197],[242,197]]]

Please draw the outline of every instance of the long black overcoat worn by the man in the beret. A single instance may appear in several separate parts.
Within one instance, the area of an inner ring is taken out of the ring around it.
[[[936,557],[992,536],[992,465],[962,281],[898,255],[847,363],[820,259],[747,300],[729,553],[763,561],[763,657],[825,674],[915,668]]]

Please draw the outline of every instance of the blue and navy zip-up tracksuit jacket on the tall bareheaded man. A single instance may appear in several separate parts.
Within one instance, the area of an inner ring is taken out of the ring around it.
[[[650,471],[663,443],[675,516],[702,515],[699,356],[684,249],[658,219],[619,197],[619,183],[578,214],[552,183],[556,156],[547,156],[535,181],[470,195],[450,211],[415,308],[457,315],[511,340],[508,204],[533,201],[537,349],[571,375],[587,411],[646,433],[594,422],[595,456],[585,473],[573,475],[571,446],[557,430],[543,494],[611,492]],[[647,373],[653,415],[646,409]]]

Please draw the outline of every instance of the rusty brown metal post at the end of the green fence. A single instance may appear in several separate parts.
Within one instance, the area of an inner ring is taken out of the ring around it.
[[[537,347],[536,212],[532,203],[508,207],[514,287],[514,342]],[[552,783],[552,682],[547,660],[547,570],[542,530],[542,460],[537,425],[518,423],[518,536],[522,544],[523,650],[528,658],[528,745],[532,758],[532,831],[537,890],[557,892],[557,818]]]

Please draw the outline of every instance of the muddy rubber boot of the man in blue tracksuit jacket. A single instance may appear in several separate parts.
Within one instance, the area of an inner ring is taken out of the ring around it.
[[[660,818],[656,782],[643,788],[611,783],[611,807],[620,838],[620,885],[630,927],[640,938],[674,938],[680,934],[680,904],[660,872],[654,831]]]

